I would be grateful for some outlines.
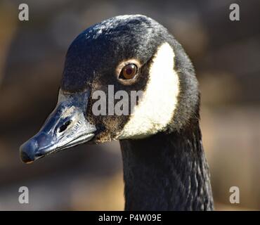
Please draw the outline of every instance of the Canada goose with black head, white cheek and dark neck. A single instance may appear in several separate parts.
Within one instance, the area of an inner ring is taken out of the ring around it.
[[[93,114],[98,100],[91,96],[108,94],[109,85],[129,96],[143,91],[133,113]],[[213,210],[199,110],[197,79],[181,44],[151,18],[116,16],[74,39],[57,106],[20,156],[28,163],[80,143],[119,140],[125,210]]]

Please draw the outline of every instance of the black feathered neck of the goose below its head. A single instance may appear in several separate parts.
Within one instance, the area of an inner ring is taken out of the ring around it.
[[[120,141],[125,210],[213,210],[200,127]]]

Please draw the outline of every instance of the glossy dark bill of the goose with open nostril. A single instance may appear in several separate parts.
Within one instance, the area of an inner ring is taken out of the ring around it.
[[[96,127],[84,115],[88,94],[60,94],[56,108],[40,131],[20,146],[22,162],[30,163],[93,139]]]

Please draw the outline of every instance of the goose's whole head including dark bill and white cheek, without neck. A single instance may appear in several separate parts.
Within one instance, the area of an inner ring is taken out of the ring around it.
[[[72,41],[56,108],[20,157],[183,129],[198,102],[193,66],[165,27],[144,15],[110,18]]]

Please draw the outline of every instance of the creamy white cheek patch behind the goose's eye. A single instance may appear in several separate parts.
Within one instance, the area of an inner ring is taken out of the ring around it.
[[[150,77],[143,97],[117,139],[142,139],[166,129],[174,115],[179,93],[174,56],[168,43],[160,46],[150,66]]]

